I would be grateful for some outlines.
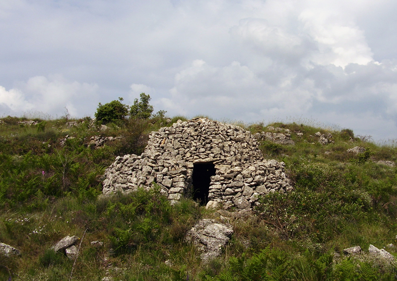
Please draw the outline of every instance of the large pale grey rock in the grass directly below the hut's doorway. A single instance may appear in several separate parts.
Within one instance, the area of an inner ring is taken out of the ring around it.
[[[185,240],[192,242],[201,252],[201,259],[207,261],[222,253],[222,247],[229,242],[232,234],[233,228],[231,225],[203,219],[188,231]]]

